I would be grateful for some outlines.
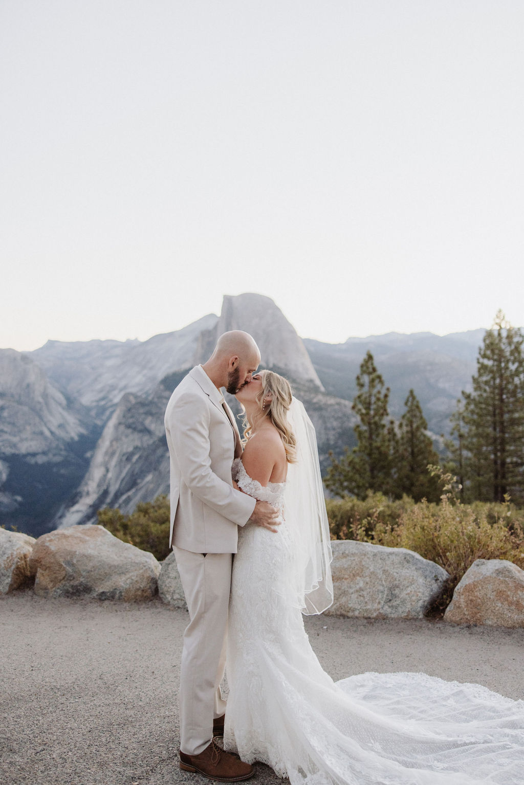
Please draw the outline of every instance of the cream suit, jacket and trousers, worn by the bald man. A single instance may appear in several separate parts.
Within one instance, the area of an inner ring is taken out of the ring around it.
[[[202,366],[189,371],[174,390],[164,424],[170,453],[169,542],[190,617],[181,658],[180,749],[191,755],[211,742],[213,717],[225,711],[219,685],[232,554],[236,527],[247,523],[255,499],[233,488],[231,465],[242,451],[240,435]]]

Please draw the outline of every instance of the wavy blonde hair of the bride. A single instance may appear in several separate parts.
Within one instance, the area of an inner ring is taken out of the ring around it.
[[[257,376],[260,376],[262,379],[262,388],[256,397],[259,411],[251,425],[244,416],[243,444],[246,444],[254,426],[258,425],[264,418],[269,417],[278,433],[280,433],[280,439],[286,451],[287,462],[295,463],[296,439],[295,434],[288,425],[288,409],[291,406],[291,398],[293,396],[291,385],[288,379],[276,374],[274,371],[258,371]],[[271,400],[264,406],[264,400],[269,396]]]

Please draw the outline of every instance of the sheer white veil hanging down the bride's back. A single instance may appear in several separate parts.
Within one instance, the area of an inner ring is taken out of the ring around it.
[[[325,611],[333,602],[332,548],[317,436],[304,404],[295,397],[288,423],[297,440],[297,462],[288,466],[284,494],[284,518],[297,544],[289,579],[298,607],[309,615]]]

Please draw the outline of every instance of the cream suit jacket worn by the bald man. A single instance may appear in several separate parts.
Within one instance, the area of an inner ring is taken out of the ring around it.
[[[240,434],[233,412],[201,365],[189,371],[167,403],[170,455],[169,545],[194,553],[236,553],[237,526],[256,500],[233,488],[231,465]]]

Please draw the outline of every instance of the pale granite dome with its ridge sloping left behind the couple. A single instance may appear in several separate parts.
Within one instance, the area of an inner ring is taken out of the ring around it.
[[[124,393],[147,395],[171,371],[205,362],[226,330],[253,335],[262,352],[262,367],[286,368],[295,378],[322,389],[295,328],[273,300],[261,294],[225,297],[219,317],[208,314],[148,341],[47,341],[30,356],[72,400],[105,422]]]

